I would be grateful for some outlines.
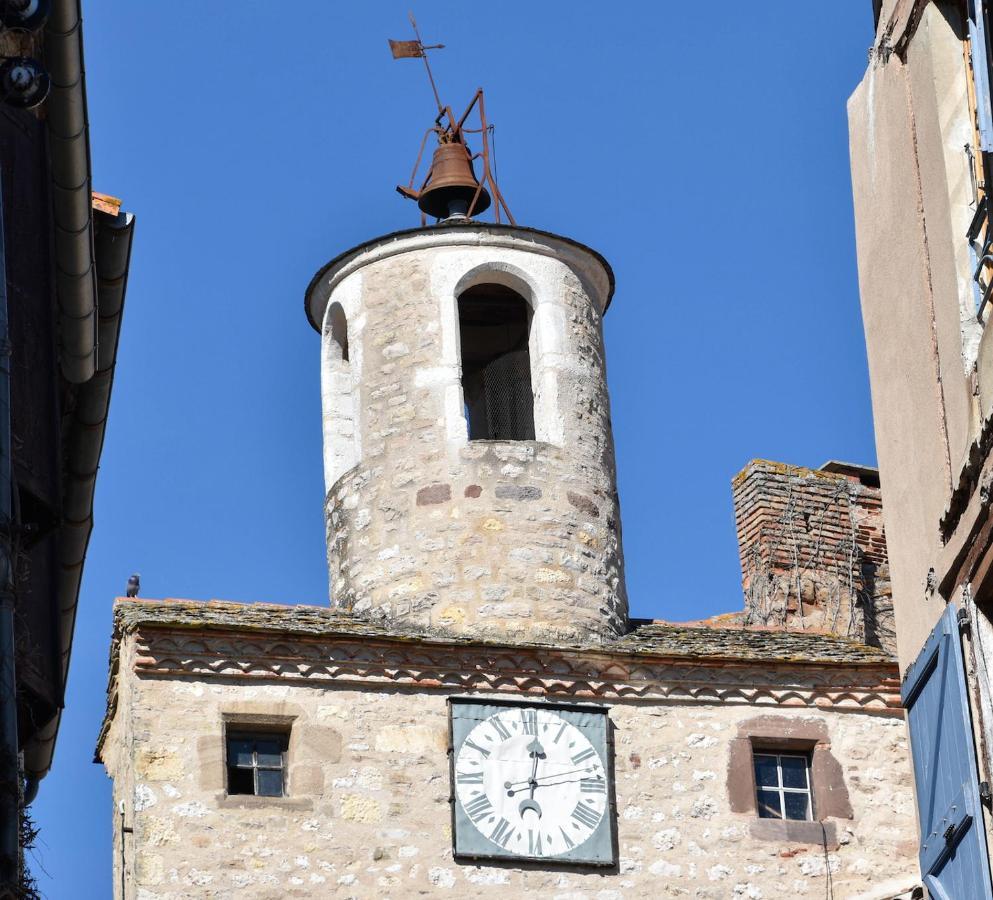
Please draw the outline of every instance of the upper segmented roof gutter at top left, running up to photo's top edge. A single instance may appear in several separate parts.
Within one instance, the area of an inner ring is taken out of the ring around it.
[[[46,102],[55,221],[59,361],[71,384],[97,368],[97,287],[90,206],[90,139],[80,0],[54,0],[45,25]]]

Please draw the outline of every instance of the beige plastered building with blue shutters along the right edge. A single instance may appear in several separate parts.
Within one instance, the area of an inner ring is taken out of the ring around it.
[[[989,897],[993,23],[983,0],[874,11],[848,115],[920,864],[935,896]]]

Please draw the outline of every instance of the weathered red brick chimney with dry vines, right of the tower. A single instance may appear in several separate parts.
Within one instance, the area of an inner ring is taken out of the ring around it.
[[[733,482],[745,622],[895,647],[879,473],[752,460]]]

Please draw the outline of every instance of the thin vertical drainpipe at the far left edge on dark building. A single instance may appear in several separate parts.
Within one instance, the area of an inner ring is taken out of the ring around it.
[[[14,673],[14,578],[10,554],[10,338],[7,333],[7,257],[0,184],[0,885],[20,869],[20,765],[17,681]]]

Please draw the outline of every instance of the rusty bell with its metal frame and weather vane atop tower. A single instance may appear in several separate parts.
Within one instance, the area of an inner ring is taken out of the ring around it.
[[[421,34],[413,13],[410,14],[410,24],[414,28],[416,40],[390,40],[390,51],[394,59],[424,60],[424,68],[427,71],[428,81],[431,83],[431,91],[434,94],[438,115],[421,140],[421,147],[417,153],[417,161],[414,163],[410,181],[406,185],[397,185],[397,191],[401,196],[417,201],[421,210],[422,225],[426,223],[427,216],[433,216],[438,220],[470,219],[474,214],[482,213],[488,209],[493,200],[496,201],[493,205],[496,221],[500,221],[500,210],[503,209],[508,221],[512,225],[516,225],[517,223],[514,221],[493,175],[490,150],[490,136],[493,133],[493,126],[488,124],[486,120],[483,89],[479,88],[476,91],[465,112],[456,119],[451,106],[441,101],[434,75],[431,72],[431,64],[428,62],[427,51],[441,50],[444,49],[445,45],[425,44],[421,40]],[[469,119],[474,111],[478,128],[469,127]],[[421,166],[421,158],[424,155],[424,147],[432,134],[435,135],[438,146],[432,155],[427,175],[425,175],[420,187],[415,188],[414,184],[417,180],[417,171]],[[470,134],[480,136],[482,150],[479,153],[473,154],[469,148],[466,135]],[[473,162],[477,159],[482,161],[483,167],[480,180],[476,179],[476,174],[473,171]],[[487,191],[487,187],[489,191]]]

